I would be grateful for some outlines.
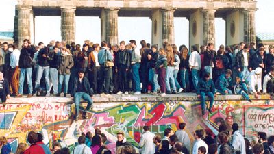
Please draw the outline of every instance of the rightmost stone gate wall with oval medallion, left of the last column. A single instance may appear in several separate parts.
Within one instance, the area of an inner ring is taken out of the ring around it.
[[[226,44],[234,45],[244,41],[244,15],[240,11],[232,12],[226,17]],[[231,26],[234,22],[234,36],[231,34]]]

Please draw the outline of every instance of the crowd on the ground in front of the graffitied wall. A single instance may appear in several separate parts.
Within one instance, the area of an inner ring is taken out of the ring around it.
[[[251,140],[244,138],[240,133],[239,126],[234,123],[230,126],[222,123],[219,125],[219,133],[215,136],[211,129],[197,129],[194,142],[186,132],[186,123],[179,123],[179,129],[164,129],[163,138],[159,134],[152,133],[149,126],[144,126],[139,141],[139,147],[132,146],[127,142],[123,131],[116,133],[117,154],[272,154],[274,153],[274,136],[265,132],[258,132]],[[205,133],[206,132],[206,133]],[[100,129],[95,129],[94,135],[89,131],[82,133],[74,148],[62,147],[59,142],[53,142],[49,149],[43,142],[41,133],[30,131],[27,142],[20,143],[15,154],[111,154],[106,142],[108,138]],[[10,144],[4,136],[0,137],[1,154],[11,154]],[[138,149],[139,151],[136,151]],[[112,149],[113,150],[113,149]]]

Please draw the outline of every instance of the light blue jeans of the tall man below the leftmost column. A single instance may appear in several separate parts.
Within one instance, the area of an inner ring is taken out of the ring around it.
[[[31,68],[21,68],[20,78],[19,78],[19,94],[23,94],[25,74],[27,74],[27,86],[29,94],[32,94],[32,67]]]

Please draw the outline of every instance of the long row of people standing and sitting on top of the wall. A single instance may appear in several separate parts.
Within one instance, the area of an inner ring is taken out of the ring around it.
[[[274,47],[268,53],[264,44],[240,42],[235,47],[214,50],[214,44],[179,49],[164,42],[162,47],[135,40],[118,44],[66,44],[51,41],[38,46],[27,39],[21,51],[16,44],[4,42],[0,49],[0,97],[3,103],[10,96],[27,97],[71,94],[75,100],[75,120],[80,99],[88,101],[84,110],[92,107],[93,94],[178,94],[196,92],[201,99],[201,113],[212,112],[216,94],[249,94],[274,90]],[[206,107],[206,96],[210,105]]]

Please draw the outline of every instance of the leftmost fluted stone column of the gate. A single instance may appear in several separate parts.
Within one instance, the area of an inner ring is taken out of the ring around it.
[[[29,39],[30,34],[30,12],[31,8],[17,8],[18,10],[18,48],[21,49],[23,40]]]

